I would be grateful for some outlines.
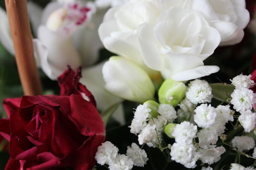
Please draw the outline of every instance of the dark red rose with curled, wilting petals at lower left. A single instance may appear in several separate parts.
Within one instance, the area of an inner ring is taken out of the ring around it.
[[[78,83],[79,72],[68,69],[65,74],[73,77],[62,81],[74,94],[4,101],[8,118],[0,120],[0,134],[10,141],[5,169],[92,169],[105,130],[93,96],[81,97],[90,92]]]

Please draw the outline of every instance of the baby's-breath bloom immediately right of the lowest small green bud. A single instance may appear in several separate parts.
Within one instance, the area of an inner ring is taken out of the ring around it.
[[[175,137],[177,143],[192,143],[193,138],[196,137],[197,127],[189,122],[182,122],[177,124],[173,129],[172,136]]]

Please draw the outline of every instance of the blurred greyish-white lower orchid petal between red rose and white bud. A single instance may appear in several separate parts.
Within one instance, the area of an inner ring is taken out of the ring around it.
[[[101,111],[105,111],[113,104],[122,101],[122,99],[120,99],[119,97],[113,96],[109,92],[106,92],[106,90],[104,89],[105,82],[103,80],[102,71],[101,71],[104,63],[105,62],[101,62],[96,66],[83,69],[82,71],[83,77],[80,80],[80,82],[86,85],[86,87],[90,90],[90,92],[92,92],[97,102],[97,107]],[[122,105],[118,107],[118,110],[115,111],[115,113],[113,114],[113,117],[118,122],[120,122],[120,124],[123,125],[125,123],[124,110]]]

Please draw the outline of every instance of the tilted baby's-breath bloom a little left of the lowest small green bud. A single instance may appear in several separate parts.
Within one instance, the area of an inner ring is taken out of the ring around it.
[[[157,138],[156,125],[147,125],[138,135],[140,145],[143,145],[143,143],[150,143],[154,138]]]

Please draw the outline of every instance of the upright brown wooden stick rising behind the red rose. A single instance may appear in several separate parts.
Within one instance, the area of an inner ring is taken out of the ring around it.
[[[42,94],[42,87],[33,55],[33,42],[26,0],[5,0],[15,59],[25,95]]]

